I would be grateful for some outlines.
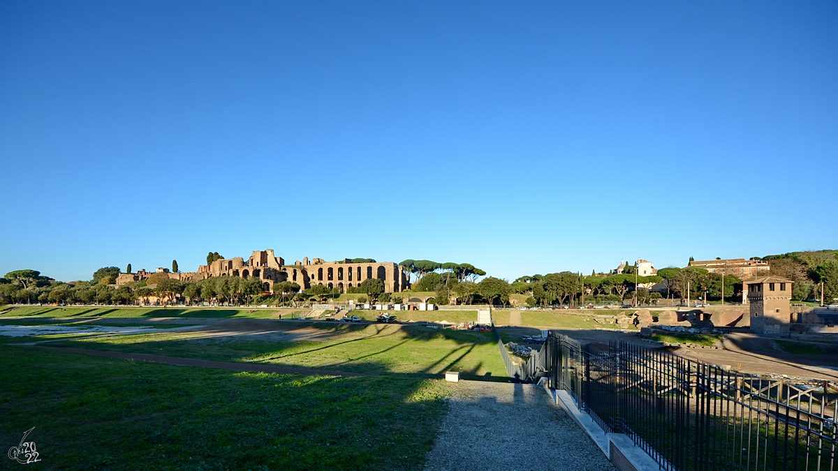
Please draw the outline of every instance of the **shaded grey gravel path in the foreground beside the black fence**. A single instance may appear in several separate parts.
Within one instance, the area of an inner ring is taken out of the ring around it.
[[[615,469],[540,386],[454,383],[426,469]]]

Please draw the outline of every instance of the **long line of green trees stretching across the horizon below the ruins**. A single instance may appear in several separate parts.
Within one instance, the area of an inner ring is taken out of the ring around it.
[[[209,253],[207,262],[223,258],[218,252]],[[826,303],[838,298],[838,251],[799,251],[782,255],[754,257],[769,261],[770,274],[785,277],[794,282],[792,297],[797,300],[814,300],[820,297],[823,287]],[[372,259],[352,259],[371,261]],[[736,301],[742,293],[742,280],[718,273],[710,273],[698,267],[662,268],[657,275],[636,277],[636,267],[625,267],[618,275],[592,273],[590,276],[572,272],[548,273],[519,277],[515,282],[496,277],[484,277],[486,272],[469,263],[440,263],[429,260],[402,261],[406,273],[416,278],[412,292],[434,292],[430,300],[437,304],[510,303],[513,293],[528,295],[530,305],[551,305],[566,303],[618,303],[631,299],[632,303],[649,303],[660,298],[658,292],[650,292],[649,285],[664,282],[667,298],[701,298],[710,300],[724,298]],[[173,271],[177,261],[173,261]],[[127,270],[131,272],[131,268]],[[274,285],[275,294],[262,292],[256,279],[240,277],[213,277],[199,282],[180,282],[169,279],[165,273],[152,273],[142,282],[131,282],[116,287],[118,267],[102,267],[93,273],[89,281],[56,282],[35,270],[17,270],[0,277],[0,303],[102,303],[131,304],[144,298],[155,297],[164,303],[266,303],[275,299],[277,303],[303,301],[324,301],[336,298],[338,288],[314,285],[302,292],[302,287],[293,282],[279,282]],[[723,284],[722,284],[723,283]],[[384,282],[377,278],[365,280],[358,287],[347,292],[364,294],[358,298],[361,303],[379,301],[401,302],[402,295],[385,293]]]

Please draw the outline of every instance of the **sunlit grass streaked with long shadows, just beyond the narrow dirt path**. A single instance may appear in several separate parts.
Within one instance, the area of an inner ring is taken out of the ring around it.
[[[325,322],[283,324],[283,327],[307,328],[313,334],[324,334],[324,341],[257,336],[208,339],[200,334],[159,332],[67,340],[50,345],[371,375],[438,378],[445,371],[458,370],[464,379],[507,380],[503,360],[490,333]]]

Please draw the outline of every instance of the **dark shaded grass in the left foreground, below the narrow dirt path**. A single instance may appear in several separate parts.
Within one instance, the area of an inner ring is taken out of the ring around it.
[[[0,443],[34,427],[27,441],[42,461],[32,466],[49,469],[419,469],[448,391],[441,380],[246,373],[2,344],[0,365]]]

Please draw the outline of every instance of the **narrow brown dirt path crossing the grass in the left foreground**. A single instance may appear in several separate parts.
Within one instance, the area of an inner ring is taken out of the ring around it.
[[[221,370],[258,371],[261,373],[280,373],[285,375],[366,376],[361,375],[360,373],[347,373],[345,371],[309,370],[308,368],[256,365],[252,363],[235,363],[233,361],[193,360],[191,358],[178,358],[175,356],[106,352],[101,350],[90,349],[69,349],[64,347],[44,347],[42,345],[33,345],[33,347],[37,349],[48,349],[66,353],[104,356],[106,358],[118,358],[121,360],[147,361],[150,363],[164,363],[166,365],[178,366],[200,366],[202,368],[220,368]]]

